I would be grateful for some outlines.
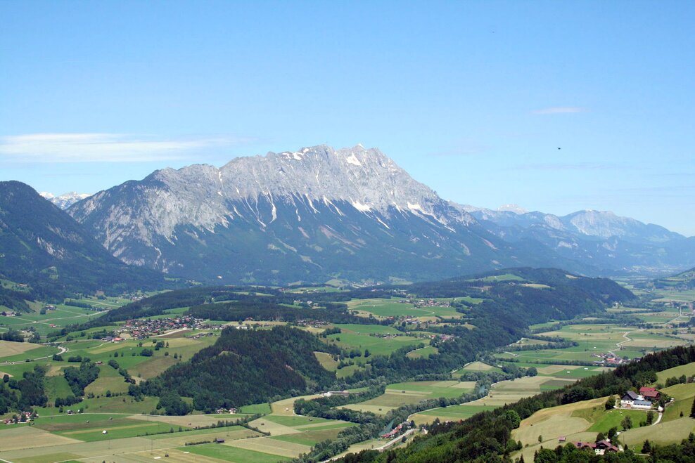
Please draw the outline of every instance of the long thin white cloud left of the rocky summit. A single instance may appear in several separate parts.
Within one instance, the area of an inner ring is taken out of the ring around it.
[[[30,133],[0,137],[0,159],[13,162],[151,162],[241,138],[162,139],[120,133]]]

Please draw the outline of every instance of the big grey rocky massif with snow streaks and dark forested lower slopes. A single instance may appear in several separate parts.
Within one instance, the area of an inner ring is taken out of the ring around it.
[[[202,280],[421,280],[518,263],[458,204],[361,145],[162,169],[69,213],[122,261]]]

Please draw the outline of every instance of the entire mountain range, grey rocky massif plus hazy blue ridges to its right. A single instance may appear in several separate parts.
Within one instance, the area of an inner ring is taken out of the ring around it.
[[[125,263],[215,282],[435,280],[511,266],[672,273],[695,238],[610,212],[442,200],[376,149],[326,145],[162,169],[68,213]]]

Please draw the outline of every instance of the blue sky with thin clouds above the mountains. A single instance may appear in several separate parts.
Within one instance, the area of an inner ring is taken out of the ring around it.
[[[693,30],[690,1],[2,1],[0,180],[362,143],[463,204],[695,235]]]

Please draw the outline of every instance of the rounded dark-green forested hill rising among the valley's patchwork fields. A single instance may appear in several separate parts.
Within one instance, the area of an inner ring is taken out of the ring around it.
[[[142,390],[158,396],[174,391],[192,397],[196,409],[207,411],[288,393],[299,396],[336,381],[335,372],[324,370],[314,351],[338,353],[313,334],[295,328],[227,328],[214,346],[199,351],[190,362],[174,365]]]

